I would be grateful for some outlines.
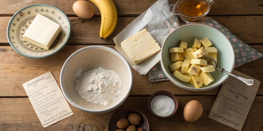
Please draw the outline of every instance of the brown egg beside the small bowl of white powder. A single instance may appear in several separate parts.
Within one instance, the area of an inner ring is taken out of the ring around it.
[[[184,119],[188,122],[198,120],[203,113],[203,106],[197,100],[189,101],[184,107]]]

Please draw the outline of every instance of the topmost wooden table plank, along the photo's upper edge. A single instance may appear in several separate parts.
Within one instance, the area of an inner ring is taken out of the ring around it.
[[[55,7],[58,7],[66,14],[72,15],[74,14],[72,10],[73,3],[77,0],[57,0],[57,1],[45,1],[45,0],[31,0],[31,1],[23,1],[23,0],[14,0],[14,1],[1,1],[0,2],[0,16],[14,14],[19,9],[31,5],[31,4],[50,4]],[[157,0],[113,0],[115,6],[117,8],[117,12],[119,16],[138,16],[147,10],[153,3]],[[175,3],[177,0],[172,0],[172,3]],[[221,0],[215,1],[211,7],[209,15],[262,15],[261,0]],[[94,14],[100,15],[98,8],[92,4],[94,7]]]

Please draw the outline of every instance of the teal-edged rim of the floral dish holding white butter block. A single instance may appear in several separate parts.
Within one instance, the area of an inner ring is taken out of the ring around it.
[[[52,8],[55,8],[57,10],[59,10],[64,16],[65,18],[67,19],[67,22],[69,23],[69,32],[68,32],[68,37],[67,39],[65,40],[65,42],[62,44],[62,46],[60,46],[57,50],[55,50],[54,52],[50,53],[50,54],[47,54],[47,55],[44,55],[44,56],[30,56],[30,55],[27,55],[27,54],[24,54],[22,53],[21,51],[19,51],[17,48],[15,48],[13,46],[13,43],[11,42],[11,39],[10,39],[10,27],[11,27],[11,24],[12,24],[12,21],[14,20],[14,18],[17,16],[17,14],[19,14],[22,10],[26,9],[26,8],[29,8],[29,7],[32,7],[32,6],[48,6],[48,7],[52,7]],[[18,10],[13,16],[12,18],[9,20],[9,23],[8,23],[8,26],[7,26],[7,39],[8,39],[8,42],[9,42],[9,45],[19,54],[21,54],[22,56],[25,56],[25,57],[28,57],[28,58],[45,58],[45,57],[49,57],[49,56],[52,56],[53,54],[57,53],[58,51],[60,51],[67,43],[68,43],[68,40],[69,40],[69,37],[70,37],[70,34],[71,34],[71,25],[70,25],[70,21],[69,21],[69,18],[68,16],[62,11],[60,10],[59,8],[55,7],[55,6],[52,6],[52,5],[49,5],[49,4],[31,4],[29,6],[26,6],[26,7],[23,7],[22,9]]]

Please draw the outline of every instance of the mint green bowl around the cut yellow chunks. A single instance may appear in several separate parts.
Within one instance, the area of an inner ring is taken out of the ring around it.
[[[215,72],[210,73],[214,78],[212,83],[207,86],[203,85],[201,88],[196,89],[193,85],[183,82],[172,75],[169,66],[173,64],[173,62],[171,62],[171,56],[168,51],[169,48],[179,47],[181,40],[188,43],[187,48],[191,48],[195,38],[203,39],[205,37],[213,43],[213,47],[218,49],[218,68],[224,68],[227,72],[232,72],[235,64],[235,53],[231,42],[223,33],[208,25],[184,25],[172,31],[164,40],[161,48],[161,66],[164,74],[176,86],[189,91],[206,91],[218,87],[229,77],[229,75],[216,70]]]

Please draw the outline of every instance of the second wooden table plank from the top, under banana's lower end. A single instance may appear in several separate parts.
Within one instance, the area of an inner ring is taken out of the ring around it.
[[[263,16],[234,16],[213,17],[228,28],[234,35],[248,44],[263,43]],[[6,29],[11,17],[0,17],[0,45],[8,43]],[[70,45],[114,45],[113,37],[122,31],[135,17],[119,17],[117,26],[107,39],[99,37],[100,18],[95,17],[83,20],[78,17],[69,17],[71,23]]]

